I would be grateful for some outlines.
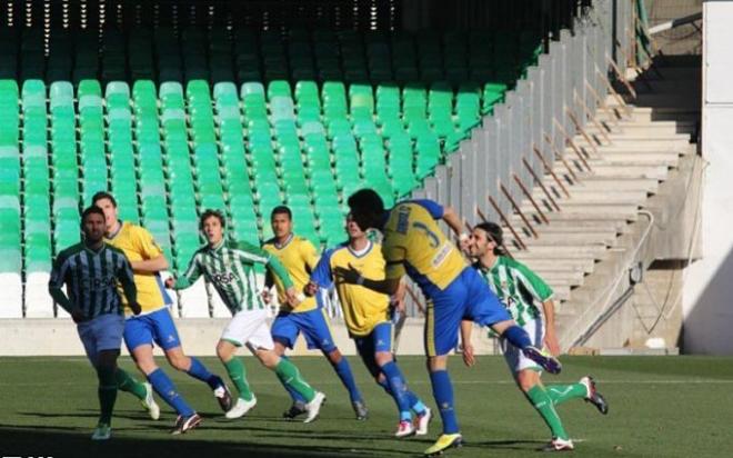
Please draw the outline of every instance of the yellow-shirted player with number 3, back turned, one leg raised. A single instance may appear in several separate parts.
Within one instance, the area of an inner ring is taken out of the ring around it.
[[[456,235],[461,233],[461,221],[450,207],[423,199],[400,202],[385,211],[382,199],[371,189],[357,191],[348,203],[359,227],[384,232],[382,252],[386,260],[386,276],[383,280],[365,278],[350,266],[334,269],[337,279],[393,295],[406,273],[428,299],[425,355],[433,396],[443,420],[443,435],[425,450],[425,455],[458,447],[462,441],[453,408],[453,386],[448,374],[448,355],[458,345],[461,320],[471,319],[481,326],[490,326],[520,348],[524,356],[551,374],[560,372],[560,361],[532,346],[526,331],[516,326],[496,296],[440,230],[438,220],[448,223]],[[463,235],[461,239],[468,239],[468,236]]]

